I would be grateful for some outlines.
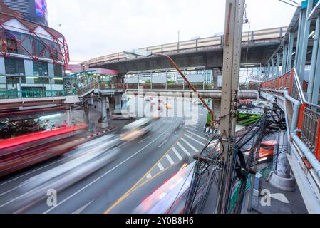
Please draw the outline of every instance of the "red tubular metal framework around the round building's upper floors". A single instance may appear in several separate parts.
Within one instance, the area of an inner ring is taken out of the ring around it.
[[[0,56],[17,57],[13,54],[21,54],[35,61],[49,58],[54,64],[63,63],[66,68],[70,57],[66,38],[61,33],[24,19],[22,14],[9,9],[2,1],[0,8]],[[13,20],[22,26],[14,26]]]

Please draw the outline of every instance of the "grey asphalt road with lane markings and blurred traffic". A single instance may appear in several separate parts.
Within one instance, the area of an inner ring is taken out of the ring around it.
[[[130,103],[135,103],[139,99],[142,98],[133,98]],[[64,190],[58,191],[57,204],[54,207],[48,206],[48,196],[38,195],[38,199],[27,207],[15,208],[15,205],[19,204],[21,195],[26,194],[17,190],[24,181],[32,182],[31,177],[73,160],[77,152],[68,152],[61,157],[2,178],[0,212],[45,214],[133,212],[144,197],[150,195],[177,172],[184,162],[192,161],[192,155],[200,152],[207,141],[203,133],[207,110],[199,105],[191,105],[188,100],[167,102],[171,103],[172,110],[163,108],[163,116],[153,130],[143,138],[123,142],[118,147],[120,153],[115,160]],[[149,108],[148,105],[150,104],[146,102],[145,109]],[[180,115],[181,108],[188,110],[187,113]],[[195,112],[190,114],[190,108]],[[142,190],[143,186],[148,187]]]

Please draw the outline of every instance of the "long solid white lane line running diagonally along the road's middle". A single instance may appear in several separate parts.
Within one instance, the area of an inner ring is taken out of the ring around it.
[[[176,118],[177,119],[177,118]],[[63,204],[64,202],[66,202],[68,199],[71,199],[72,197],[74,197],[75,195],[77,195],[79,192],[82,192],[83,190],[85,190],[87,187],[93,185],[95,182],[97,182],[98,180],[100,180],[101,178],[105,177],[105,175],[108,175],[110,172],[112,172],[113,170],[115,170],[116,168],[118,168],[120,165],[123,165],[123,163],[127,162],[128,160],[131,160],[133,157],[135,157],[135,155],[138,155],[140,152],[142,152],[143,150],[145,150],[145,148],[147,148],[148,146],[152,145],[153,142],[155,142],[156,140],[158,140],[162,135],[164,135],[168,130],[170,130],[170,128],[167,128],[167,130],[165,130],[163,133],[161,133],[157,138],[155,138],[155,140],[153,140],[152,142],[150,142],[148,145],[145,145],[142,149],[138,150],[138,152],[135,152],[133,155],[131,155],[130,157],[128,157],[126,160],[123,160],[123,162],[120,162],[118,165],[116,165],[115,167],[113,167],[111,170],[109,170],[108,172],[105,172],[103,175],[101,175],[100,177],[96,178],[95,180],[93,180],[92,182],[88,183],[88,185],[82,187],[80,190],[74,192],[72,195],[66,197],[66,199],[63,199],[61,202],[59,202],[56,207],[59,207],[61,204]],[[1,207],[1,206],[0,206]],[[56,207],[51,207],[50,209],[46,210],[46,212],[43,212],[43,214],[47,214],[48,212],[51,212],[53,209],[56,209]]]

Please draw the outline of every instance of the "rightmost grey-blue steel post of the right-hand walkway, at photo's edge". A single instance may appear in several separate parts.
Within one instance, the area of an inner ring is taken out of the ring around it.
[[[309,75],[309,84],[308,84],[308,102],[312,102],[312,93],[314,90],[314,78],[316,78],[316,63],[318,61],[318,48],[319,48],[319,34],[320,34],[320,16],[316,19],[316,31],[314,33],[314,47],[312,49],[311,57],[311,69]]]

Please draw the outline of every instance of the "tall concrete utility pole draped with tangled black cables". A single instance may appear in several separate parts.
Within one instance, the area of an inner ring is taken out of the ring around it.
[[[235,140],[237,120],[237,93],[242,44],[244,0],[226,0],[226,18],[223,48],[222,100],[220,120],[220,153],[224,165],[220,173],[217,214],[228,213],[227,204],[231,191],[232,139]],[[231,142],[231,143],[230,143]],[[231,163],[230,163],[231,162]]]

